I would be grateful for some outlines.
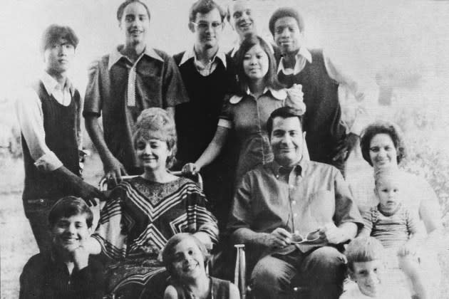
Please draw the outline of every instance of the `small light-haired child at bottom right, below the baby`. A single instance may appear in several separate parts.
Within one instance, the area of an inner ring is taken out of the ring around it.
[[[346,258],[349,278],[355,283],[346,288],[340,299],[410,299],[411,294],[406,288],[389,288],[389,276],[384,271],[385,254],[381,241],[376,238],[353,239],[346,248]]]

